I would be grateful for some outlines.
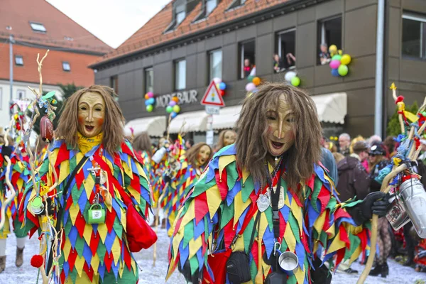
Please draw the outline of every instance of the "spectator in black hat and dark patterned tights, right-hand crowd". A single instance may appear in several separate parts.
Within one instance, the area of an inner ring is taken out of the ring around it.
[[[371,139],[371,138],[370,138]],[[376,141],[370,148],[368,155],[368,165],[370,167],[370,190],[371,192],[380,191],[381,183],[375,179],[378,173],[389,164],[389,160],[386,158],[386,150],[383,143]],[[386,277],[389,274],[389,267],[387,259],[391,253],[392,239],[390,226],[386,218],[378,220],[378,254],[376,255],[376,267],[370,272],[370,275],[377,276],[381,274],[381,277]]]

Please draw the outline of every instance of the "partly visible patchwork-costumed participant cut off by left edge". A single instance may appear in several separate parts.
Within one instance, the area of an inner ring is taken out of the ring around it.
[[[21,229],[22,223],[18,218],[18,206],[22,200],[23,188],[29,178],[28,163],[23,160],[21,155],[15,153],[13,147],[13,139],[7,136],[8,146],[6,146],[5,136],[0,136],[0,208],[6,200],[7,184],[6,184],[6,167],[7,162],[5,156],[9,156],[11,160],[11,171],[9,180],[16,195],[10,204],[7,204],[5,212],[6,219],[4,227],[0,230],[0,273],[6,268],[6,241],[7,236],[11,232],[11,224],[9,219],[12,219],[13,233],[16,236],[16,260],[15,265],[20,267],[23,264],[23,249],[25,247],[28,234]]]

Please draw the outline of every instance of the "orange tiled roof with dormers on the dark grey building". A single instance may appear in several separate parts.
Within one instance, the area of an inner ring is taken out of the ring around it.
[[[191,0],[188,0],[191,1]],[[195,0],[192,0],[195,1]],[[171,40],[183,38],[191,33],[202,31],[213,26],[219,26],[223,23],[233,21],[243,16],[248,16],[252,13],[268,9],[272,6],[282,4],[289,0],[247,0],[243,6],[238,9],[226,11],[229,5],[234,0],[222,0],[216,9],[210,13],[205,21],[197,21],[192,23],[201,11],[201,2],[195,6],[182,23],[170,33],[164,33],[165,29],[169,26],[172,21],[173,14],[173,1],[165,6],[160,12],[158,12],[151,20],[149,20],[142,28],[131,37],[126,40],[123,44],[116,48],[116,50],[104,55],[103,58],[97,60],[94,65],[99,63],[108,62],[117,58],[121,58],[124,55],[136,53],[146,48],[153,47],[155,45],[166,43]]]

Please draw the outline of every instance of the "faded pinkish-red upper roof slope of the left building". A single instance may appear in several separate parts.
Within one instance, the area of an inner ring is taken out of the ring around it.
[[[26,43],[100,54],[112,50],[45,0],[1,0],[0,15],[0,38],[9,38],[12,33],[17,41]],[[30,21],[42,23],[46,33],[34,32]],[[6,26],[11,26],[12,30],[6,30]],[[72,40],[65,40],[65,37]]]

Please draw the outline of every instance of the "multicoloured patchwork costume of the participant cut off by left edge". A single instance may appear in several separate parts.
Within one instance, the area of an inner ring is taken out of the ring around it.
[[[2,155],[2,150],[5,146],[0,146],[0,208],[4,200],[6,200],[6,166],[7,161]],[[10,224],[9,219],[13,220],[13,232],[16,234],[17,238],[25,238],[28,234],[25,230],[21,229],[22,219],[18,218],[18,207],[21,203],[23,197],[23,189],[26,183],[30,178],[30,170],[27,163],[27,157],[22,155],[17,155],[12,148],[11,154],[11,171],[9,173],[9,179],[13,185],[14,190],[16,191],[15,198],[10,204],[7,205],[6,215],[8,219],[4,224],[4,228],[0,231],[0,239],[6,239],[7,235],[10,233]]]

